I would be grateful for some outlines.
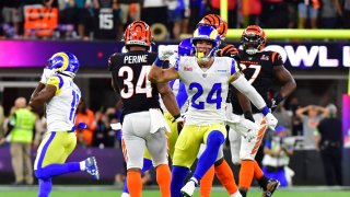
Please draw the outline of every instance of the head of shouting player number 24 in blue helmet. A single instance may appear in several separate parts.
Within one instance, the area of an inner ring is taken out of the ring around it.
[[[220,45],[220,36],[214,27],[200,25],[195,31],[191,43],[195,48],[195,56],[199,62],[206,63],[215,56],[215,51]]]

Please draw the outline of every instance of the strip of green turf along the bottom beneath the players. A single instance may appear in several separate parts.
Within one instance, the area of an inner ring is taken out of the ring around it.
[[[120,189],[114,187],[84,187],[84,186],[54,186],[50,197],[119,197]],[[35,197],[36,187],[0,187],[0,197]],[[160,197],[158,190],[143,190],[143,197]],[[194,195],[198,197],[198,192]],[[222,188],[214,188],[212,197],[229,196]],[[253,188],[248,197],[260,197],[261,192]],[[350,197],[347,187],[294,187],[279,189],[275,197]]]

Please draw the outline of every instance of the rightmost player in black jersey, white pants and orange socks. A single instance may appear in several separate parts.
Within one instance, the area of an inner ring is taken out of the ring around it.
[[[273,108],[290,95],[296,88],[295,81],[291,73],[284,68],[281,56],[276,51],[262,50],[266,44],[265,32],[257,25],[246,27],[241,37],[243,49],[238,50],[241,58],[241,70],[250,84],[264,97],[266,103],[270,103]],[[269,91],[276,80],[280,84],[280,91],[269,99]],[[242,115],[242,111],[237,104],[237,97],[232,94],[233,113]],[[256,123],[264,125],[262,114],[259,109],[253,106],[253,116]],[[231,154],[234,164],[241,162],[240,171],[240,192],[243,197],[250,186],[253,177],[255,177],[264,189],[262,196],[272,196],[275,189],[279,186],[276,179],[268,179],[264,176],[261,169],[255,161],[256,152],[261,143],[265,129],[260,129],[256,140],[248,141],[245,138],[236,135],[234,131],[229,132],[231,143]],[[241,144],[240,144],[241,143]]]

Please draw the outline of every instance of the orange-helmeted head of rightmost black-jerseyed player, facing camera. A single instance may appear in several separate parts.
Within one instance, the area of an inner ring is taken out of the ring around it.
[[[264,30],[258,25],[247,26],[242,33],[241,44],[243,49],[249,55],[254,55],[262,50],[266,44]]]

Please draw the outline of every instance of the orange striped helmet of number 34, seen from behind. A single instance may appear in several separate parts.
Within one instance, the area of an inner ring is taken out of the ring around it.
[[[128,25],[124,33],[125,46],[142,46],[147,49],[152,44],[151,27],[143,21],[135,21]]]

